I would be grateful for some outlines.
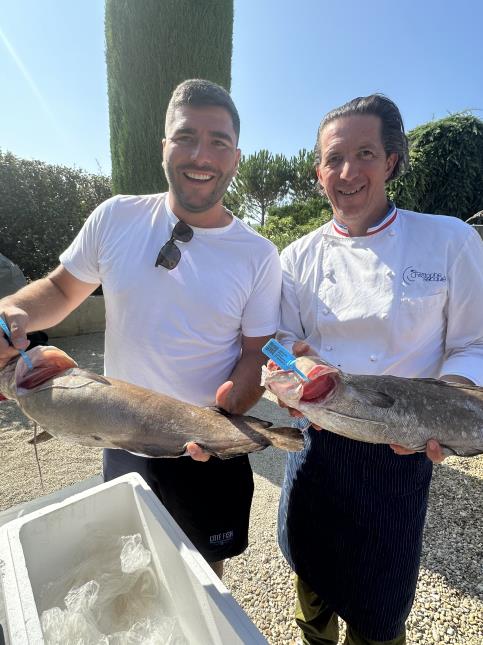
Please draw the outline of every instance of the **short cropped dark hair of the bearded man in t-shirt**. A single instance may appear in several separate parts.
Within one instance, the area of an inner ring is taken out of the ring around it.
[[[166,110],[166,120],[164,130],[168,131],[168,127],[173,120],[174,111],[177,108],[190,105],[192,107],[205,107],[207,105],[215,105],[217,107],[225,108],[230,114],[235,130],[236,140],[240,137],[240,116],[238,110],[233,103],[231,96],[221,87],[212,81],[205,81],[201,78],[191,78],[183,81],[175,88],[168,103]]]

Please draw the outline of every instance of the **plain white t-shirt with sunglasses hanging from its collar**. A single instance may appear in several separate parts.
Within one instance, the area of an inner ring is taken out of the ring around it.
[[[118,195],[101,204],[60,256],[84,282],[101,282],[105,373],[196,405],[213,405],[240,356],[242,335],[278,327],[276,247],[233,217],[192,227],[178,266],[155,267],[178,221],[166,193]]]

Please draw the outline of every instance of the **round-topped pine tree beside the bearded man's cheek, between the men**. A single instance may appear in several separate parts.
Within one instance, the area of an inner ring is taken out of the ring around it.
[[[270,206],[287,194],[289,180],[287,159],[283,155],[260,150],[240,160],[233,185],[243,210],[263,226]]]

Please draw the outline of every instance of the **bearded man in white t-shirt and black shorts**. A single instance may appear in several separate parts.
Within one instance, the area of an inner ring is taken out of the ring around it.
[[[222,204],[240,159],[229,94],[179,85],[166,113],[164,194],[117,195],[89,216],[47,278],[0,301],[14,348],[60,322],[99,284],[106,304],[105,373],[200,406],[244,413],[260,397],[263,344],[278,324],[275,246]],[[219,575],[246,548],[253,477],[248,458],[148,459],[104,452],[104,477],[138,471]]]

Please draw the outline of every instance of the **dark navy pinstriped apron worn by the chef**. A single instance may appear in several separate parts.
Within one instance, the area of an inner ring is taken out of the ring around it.
[[[288,455],[280,548],[361,635],[391,640],[414,600],[432,463],[323,430],[304,436]]]

